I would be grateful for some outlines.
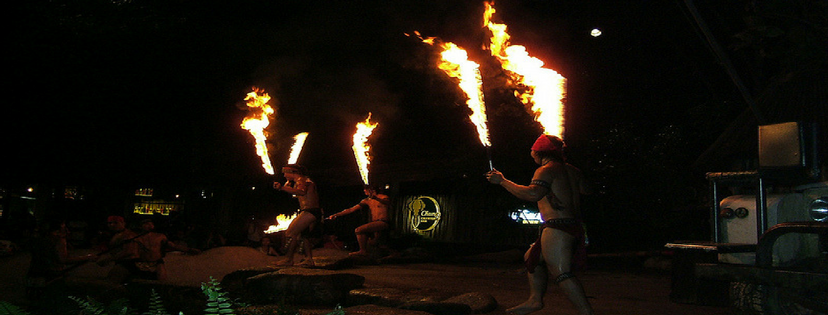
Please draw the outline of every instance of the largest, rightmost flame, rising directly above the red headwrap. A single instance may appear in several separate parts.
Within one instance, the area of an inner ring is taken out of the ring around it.
[[[526,88],[523,92],[515,91],[515,96],[526,106],[531,106],[544,133],[563,138],[566,78],[552,69],[543,68],[543,61],[529,56],[525,47],[510,45],[506,25],[491,21],[494,13],[494,5],[486,2],[483,26],[492,33],[489,44],[492,56],[500,60],[503,69],[513,74],[518,85]]]

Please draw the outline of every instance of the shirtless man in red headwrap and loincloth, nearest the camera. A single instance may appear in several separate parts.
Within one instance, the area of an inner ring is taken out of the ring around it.
[[[586,255],[584,230],[579,220],[580,194],[587,185],[580,170],[566,164],[563,140],[541,135],[532,146],[532,159],[540,165],[528,186],[518,185],[497,170],[486,174],[489,182],[503,186],[512,195],[536,201],[544,225],[541,235],[526,252],[529,271],[529,299],[508,309],[514,314],[528,314],[543,308],[549,276],[566,293],[581,314],[593,314],[581,282],[572,273],[582,267]]]

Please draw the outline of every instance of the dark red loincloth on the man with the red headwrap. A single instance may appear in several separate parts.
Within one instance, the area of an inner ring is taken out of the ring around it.
[[[541,236],[543,235],[543,230],[546,228],[561,230],[575,237],[575,248],[572,251],[571,257],[572,271],[586,269],[586,243],[584,238],[584,227],[580,220],[566,218],[546,220],[546,222],[543,223],[540,228],[538,240],[536,240],[535,243],[532,243],[529,247],[529,253],[526,255],[526,260],[524,261],[526,270],[529,271],[529,273],[535,272],[535,267],[537,267],[541,261],[541,257],[543,256]]]

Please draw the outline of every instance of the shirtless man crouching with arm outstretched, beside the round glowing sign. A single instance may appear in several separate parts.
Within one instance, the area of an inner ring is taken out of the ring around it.
[[[388,205],[391,203],[391,200],[388,196],[377,193],[377,190],[371,186],[365,186],[364,192],[368,198],[362,199],[362,201],[353,207],[328,217],[329,220],[333,220],[337,217],[354,213],[363,207],[371,211],[370,221],[360,225],[354,230],[357,236],[357,243],[359,243],[359,251],[353,252],[350,255],[368,255],[368,240],[371,238],[377,240],[379,233],[390,227],[388,222]]]

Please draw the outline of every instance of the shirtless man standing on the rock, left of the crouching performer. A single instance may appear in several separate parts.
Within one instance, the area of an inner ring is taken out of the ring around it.
[[[287,239],[287,250],[285,259],[277,265],[292,266],[293,256],[296,254],[299,243],[304,244],[305,259],[300,262],[302,266],[313,266],[313,253],[310,242],[306,239],[322,222],[322,208],[319,207],[319,194],[316,184],[308,177],[307,169],[299,164],[288,164],[282,168],[285,174],[285,183],[273,183],[273,188],[292,194],[299,199],[299,215],[290,222],[285,236]]]

